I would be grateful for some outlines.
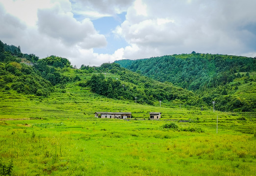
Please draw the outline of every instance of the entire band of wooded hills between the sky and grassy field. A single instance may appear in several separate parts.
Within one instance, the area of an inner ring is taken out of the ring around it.
[[[218,54],[181,54],[122,60],[74,68],[66,58],[39,59],[0,41],[0,89],[47,97],[65,93],[66,84],[90,88],[104,97],[158,106],[256,110],[256,58]],[[124,68],[127,67],[127,68]]]

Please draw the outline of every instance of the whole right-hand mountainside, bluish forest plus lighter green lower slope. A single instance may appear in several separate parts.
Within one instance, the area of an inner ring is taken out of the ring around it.
[[[256,110],[256,58],[192,52],[115,63],[191,90],[218,110]]]

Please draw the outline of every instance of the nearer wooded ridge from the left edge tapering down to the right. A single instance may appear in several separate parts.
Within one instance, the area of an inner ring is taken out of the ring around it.
[[[168,82],[155,81],[115,63],[99,67],[82,65],[80,69],[76,69],[67,59],[50,56],[34,60],[31,66],[27,66],[30,61],[26,58],[19,58],[9,51],[2,53],[5,59],[0,67],[0,88],[6,91],[13,89],[18,93],[46,97],[54,91],[54,86],[63,88],[65,92],[67,83],[76,82],[81,88],[89,87],[92,92],[112,99],[135,100],[148,105],[158,105],[162,101],[170,106],[205,106],[203,100],[192,91]],[[7,55],[9,59],[6,59]],[[20,55],[24,56],[22,53]],[[78,76],[78,73],[82,76]]]

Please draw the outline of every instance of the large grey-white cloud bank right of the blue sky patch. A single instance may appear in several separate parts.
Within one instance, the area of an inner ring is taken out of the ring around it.
[[[136,1],[129,7],[127,19],[115,30],[137,51],[126,52],[124,58],[145,58],[165,54],[251,53],[256,33],[240,28],[256,25],[253,0],[147,0],[147,14],[136,13]],[[143,10],[142,10],[143,11]],[[254,51],[256,48],[254,47]],[[141,54],[144,53],[144,57]]]

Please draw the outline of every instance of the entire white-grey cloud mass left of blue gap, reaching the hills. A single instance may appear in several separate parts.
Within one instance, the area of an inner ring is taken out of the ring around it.
[[[93,47],[105,46],[105,36],[89,19],[78,22],[71,11],[69,0],[0,0],[0,40],[40,58],[57,55],[77,66],[100,65]]]

